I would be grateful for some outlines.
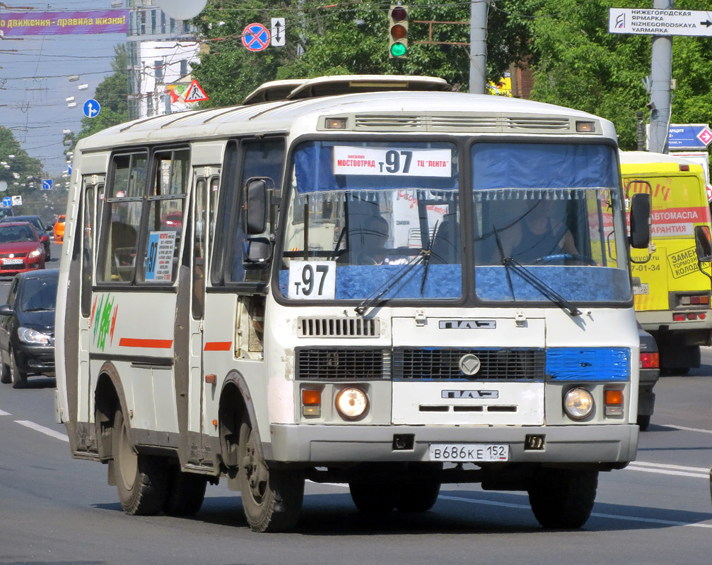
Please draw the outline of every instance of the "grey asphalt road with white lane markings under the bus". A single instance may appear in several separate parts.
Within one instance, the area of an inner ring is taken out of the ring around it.
[[[58,254],[56,254],[58,257]],[[54,265],[53,265],[54,266]],[[1,290],[0,290],[1,292]],[[547,531],[520,492],[444,485],[424,514],[359,514],[344,485],[306,487],[294,532],[256,534],[238,493],[209,486],[193,518],[130,517],[106,468],[73,460],[54,379],[0,385],[0,564],[697,564],[712,547],[712,349],[663,377],[638,460],[602,473],[577,531]]]

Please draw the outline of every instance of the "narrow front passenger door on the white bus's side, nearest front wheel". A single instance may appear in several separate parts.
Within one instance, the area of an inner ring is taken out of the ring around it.
[[[190,275],[190,317],[189,317],[189,463],[210,460],[204,453],[203,441],[203,390],[205,377],[203,371],[203,320],[205,307],[205,281],[208,266],[209,238],[211,237],[211,217],[214,211],[214,199],[211,198],[219,184],[219,169],[201,168],[201,175],[196,177],[193,197],[191,229],[191,275]]]

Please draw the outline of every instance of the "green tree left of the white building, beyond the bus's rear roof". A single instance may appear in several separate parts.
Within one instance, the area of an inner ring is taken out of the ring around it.
[[[94,98],[101,106],[99,115],[82,118],[82,129],[69,147],[73,148],[78,139],[128,121],[127,58],[126,46],[123,43],[114,48],[111,68],[114,72],[99,83],[95,91]]]

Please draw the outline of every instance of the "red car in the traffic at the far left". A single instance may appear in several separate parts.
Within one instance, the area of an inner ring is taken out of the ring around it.
[[[29,222],[0,224],[0,276],[16,275],[26,270],[43,269],[44,242]]]

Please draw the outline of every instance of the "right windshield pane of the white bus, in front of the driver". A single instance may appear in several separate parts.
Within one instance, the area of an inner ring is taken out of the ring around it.
[[[523,272],[569,301],[631,300],[614,149],[481,143],[472,162],[478,298],[544,300]]]

